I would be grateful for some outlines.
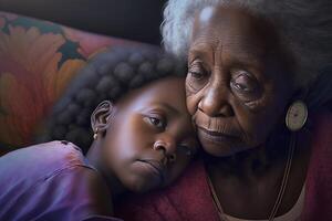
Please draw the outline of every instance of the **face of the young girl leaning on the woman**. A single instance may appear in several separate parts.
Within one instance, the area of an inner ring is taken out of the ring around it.
[[[103,138],[103,162],[127,189],[169,185],[195,155],[198,143],[184,85],[180,77],[162,78],[116,103]]]

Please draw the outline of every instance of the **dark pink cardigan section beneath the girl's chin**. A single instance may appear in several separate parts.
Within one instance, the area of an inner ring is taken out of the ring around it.
[[[124,220],[219,220],[200,160],[195,161],[172,187],[115,204],[116,217]]]

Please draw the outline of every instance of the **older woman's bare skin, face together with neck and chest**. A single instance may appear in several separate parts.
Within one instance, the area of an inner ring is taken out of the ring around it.
[[[284,114],[295,93],[290,63],[273,25],[263,19],[221,7],[196,14],[187,106],[203,148],[215,157],[206,167],[227,214],[268,219],[276,202],[289,148]],[[269,146],[267,140],[276,135],[286,138]],[[301,141],[277,215],[293,207],[303,187],[309,135],[299,133]],[[276,148],[278,154],[271,154]],[[236,162],[230,159],[235,156]]]

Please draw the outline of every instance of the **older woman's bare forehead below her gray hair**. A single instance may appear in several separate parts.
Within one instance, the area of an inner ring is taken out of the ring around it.
[[[191,36],[190,52],[222,50],[245,60],[264,56],[276,38],[264,20],[243,9],[222,7],[196,13]]]

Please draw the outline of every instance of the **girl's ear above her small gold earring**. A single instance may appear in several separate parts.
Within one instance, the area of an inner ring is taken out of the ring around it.
[[[104,101],[98,104],[91,115],[91,127],[94,133],[107,129],[111,117],[114,115],[114,106],[112,102]]]

